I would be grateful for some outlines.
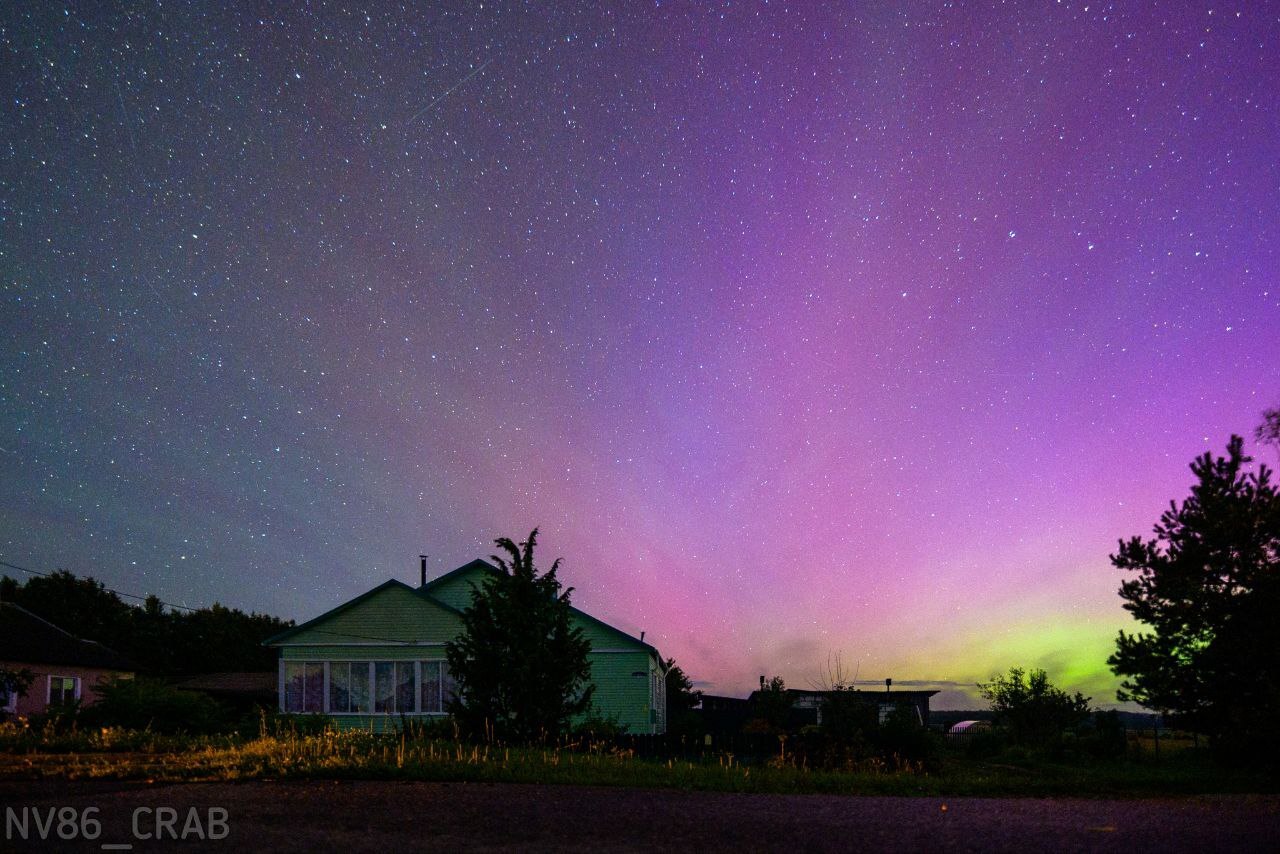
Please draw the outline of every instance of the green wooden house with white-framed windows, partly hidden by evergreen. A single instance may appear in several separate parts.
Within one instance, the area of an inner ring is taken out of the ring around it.
[[[390,580],[265,641],[280,650],[282,712],[333,717],[342,727],[396,726],[444,716],[453,680],[444,644],[462,631],[462,609],[489,574],[485,561],[412,588]],[[666,732],[666,675],[658,650],[573,608],[591,641],[595,713],[628,732]]]

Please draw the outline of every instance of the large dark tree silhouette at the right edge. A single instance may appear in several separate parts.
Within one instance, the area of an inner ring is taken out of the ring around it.
[[[1116,639],[1107,659],[1119,698],[1176,716],[1225,758],[1280,758],[1280,495],[1233,435],[1225,457],[1192,463],[1197,483],[1171,502],[1155,539],[1120,542],[1111,562],[1138,577],[1120,586],[1149,632]]]

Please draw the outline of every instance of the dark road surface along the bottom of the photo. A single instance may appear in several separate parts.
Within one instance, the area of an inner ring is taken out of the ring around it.
[[[1275,850],[1280,839],[1275,795],[941,799],[385,781],[38,781],[0,782],[0,805],[14,814],[0,842],[6,850],[1204,851]],[[70,823],[59,839],[55,819],[40,841],[35,819],[47,818],[50,807]],[[65,839],[90,807],[101,822],[96,839]],[[23,814],[27,842],[15,837],[14,819]],[[183,831],[186,839],[154,839]],[[201,841],[201,834],[223,839]]]

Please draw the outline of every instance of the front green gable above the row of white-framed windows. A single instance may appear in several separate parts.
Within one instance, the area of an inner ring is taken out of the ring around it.
[[[462,630],[457,611],[390,580],[265,641],[269,647],[436,645]]]

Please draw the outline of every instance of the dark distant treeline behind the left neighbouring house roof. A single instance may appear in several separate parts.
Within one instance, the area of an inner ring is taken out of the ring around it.
[[[13,602],[78,638],[110,647],[143,673],[166,679],[275,670],[276,652],[264,648],[262,640],[293,625],[218,603],[178,611],[151,595],[142,604],[131,604],[101,581],[65,571],[24,584],[0,577],[0,600]]]

